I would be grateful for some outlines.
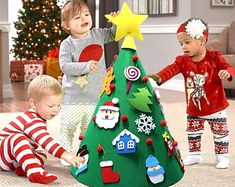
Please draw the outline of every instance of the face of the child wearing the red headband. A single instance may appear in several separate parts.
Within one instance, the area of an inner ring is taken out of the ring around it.
[[[205,49],[205,40],[190,38],[185,32],[177,33],[177,39],[180,42],[182,51],[185,55],[190,58],[198,57],[203,55]]]

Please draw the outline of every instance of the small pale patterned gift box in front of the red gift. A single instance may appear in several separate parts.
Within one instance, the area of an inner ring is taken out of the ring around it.
[[[43,74],[43,64],[25,64],[24,73],[24,81],[30,82],[38,75]]]

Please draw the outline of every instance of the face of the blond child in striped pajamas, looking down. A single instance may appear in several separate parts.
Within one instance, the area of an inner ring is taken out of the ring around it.
[[[60,112],[62,95],[43,96],[39,101],[32,101],[33,109],[46,120],[50,120]]]

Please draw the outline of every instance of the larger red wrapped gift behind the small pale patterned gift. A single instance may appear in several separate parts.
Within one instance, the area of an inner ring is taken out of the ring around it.
[[[11,81],[24,81],[24,65],[26,64],[42,64],[43,73],[46,73],[46,62],[44,60],[12,60],[10,62]]]

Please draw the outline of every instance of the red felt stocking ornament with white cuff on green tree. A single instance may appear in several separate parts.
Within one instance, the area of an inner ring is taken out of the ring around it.
[[[118,172],[112,171],[113,162],[111,160],[100,162],[100,167],[103,183],[115,183],[119,181],[120,175]]]

